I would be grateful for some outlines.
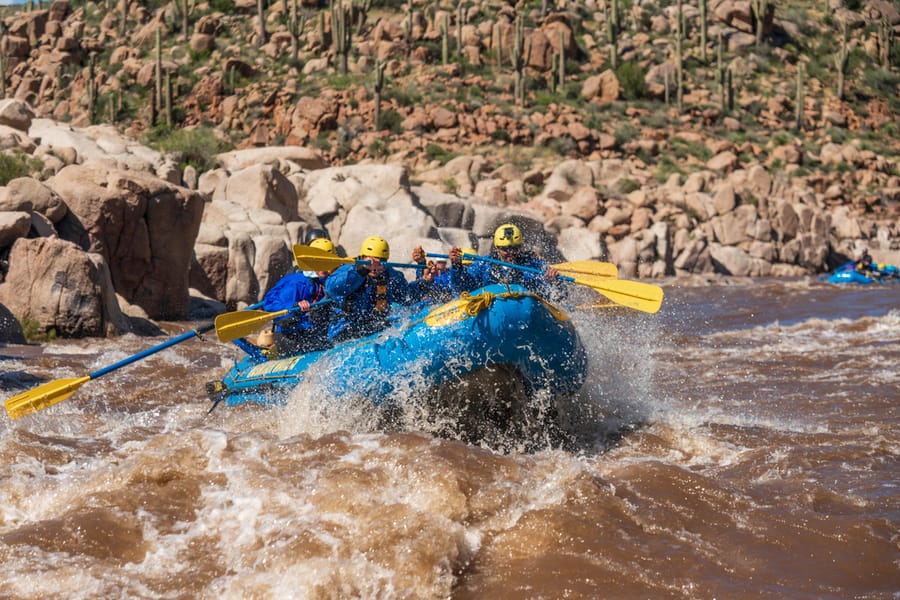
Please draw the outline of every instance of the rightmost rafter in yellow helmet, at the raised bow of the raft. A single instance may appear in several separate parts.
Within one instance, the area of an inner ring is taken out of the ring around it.
[[[523,247],[522,230],[512,223],[504,223],[494,231],[494,247],[491,257],[503,262],[538,269],[542,275],[515,267],[497,265],[487,261],[474,261],[465,265],[463,250],[450,249],[450,277],[452,286],[459,291],[472,291],[492,283],[512,283],[545,297],[554,296],[559,271],[548,265],[533,252]]]

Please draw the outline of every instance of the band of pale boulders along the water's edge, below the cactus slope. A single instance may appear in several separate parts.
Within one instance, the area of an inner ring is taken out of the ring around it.
[[[60,336],[254,303],[309,228],[348,255],[384,236],[405,261],[420,244],[486,253],[511,220],[549,260],[608,260],[630,278],[812,275],[863,248],[900,262],[898,205],[873,212],[858,193],[874,181],[897,189],[896,165],[852,144],[783,151],[790,164],[849,165],[845,176],[787,179],[723,146],[660,183],[635,156],[524,172],[462,156],[411,176],[401,164],[332,166],[300,146],[230,152],[197,174],[113,127],[35,118],[16,100],[0,102],[0,134],[4,149],[40,161],[0,187],[0,304]]]

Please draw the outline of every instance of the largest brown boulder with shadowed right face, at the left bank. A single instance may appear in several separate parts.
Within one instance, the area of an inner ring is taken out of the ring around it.
[[[69,207],[60,236],[102,255],[119,294],[152,319],[187,316],[202,196],[94,162],[70,165],[46,183]]]

